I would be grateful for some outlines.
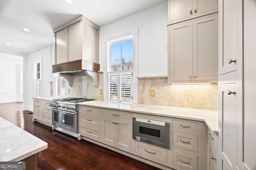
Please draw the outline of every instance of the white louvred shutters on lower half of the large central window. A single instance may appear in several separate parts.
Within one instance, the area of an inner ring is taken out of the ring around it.
[[[132,70],[108,72],[108,100],[132,102]]]

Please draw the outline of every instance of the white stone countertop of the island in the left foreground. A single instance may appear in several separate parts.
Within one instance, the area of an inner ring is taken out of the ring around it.
[[[0,161],[20,161],[48,147],[48,144],[0,117]]]

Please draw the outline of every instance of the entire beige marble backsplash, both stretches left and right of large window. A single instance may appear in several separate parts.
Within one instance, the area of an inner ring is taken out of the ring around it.
[[[103,72],[99,72],[99,85],[95,87],[86,74],[73,75],[73,87],[68,97],[104,100]],[[150,97],[150,90],[155,96]],[[138,104],[218,110],[218,84],[168,84],[167,77],[138,78]]]

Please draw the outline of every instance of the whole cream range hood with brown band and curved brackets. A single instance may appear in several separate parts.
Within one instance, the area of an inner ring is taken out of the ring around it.
[[[53,73],[60,73],[72,87],[73,74],[86,74],[98,87],[100,27],[83,15],[55,29]]]

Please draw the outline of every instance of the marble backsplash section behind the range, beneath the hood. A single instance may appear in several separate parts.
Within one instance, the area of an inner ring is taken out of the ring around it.
[[[99,72],[99,85],[95,87],[92,78],[86,74],[73,75],[73,87],[68,86],[70,93],[68,97],[92,98],[104,100],[103,94],[100,94],[100,89],[103,88],[103,72]]]

